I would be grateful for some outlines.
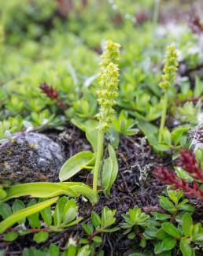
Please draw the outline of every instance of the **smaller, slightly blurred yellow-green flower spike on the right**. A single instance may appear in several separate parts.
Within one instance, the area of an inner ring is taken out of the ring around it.
[[[172,83],[175,82],[175,76],[179,65],[174,45],[167,47],[164,62],[164,75],[162,76],[162,81],[159,85],[162,88],[168,89],[172,86]]]

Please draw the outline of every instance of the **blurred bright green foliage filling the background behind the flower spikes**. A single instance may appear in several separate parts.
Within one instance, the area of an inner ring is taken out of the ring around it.
[[[94,117],[106,39],[122,46],[118,111],[156,124],[164,50],[171,43],[181,64],[171,99],[202,97],[202,73],[188,76],[203,61],[202,13],[201,1],[186,0],[0,0],[0,138],[8,129],[22,130],[24,121],[58,127],[72,117]],[[65,114],[40,91],[44,82],[67,104]],[[201,111],[192,102],[170,103],[179,124],[190,123],[189,109],[190,116]]]

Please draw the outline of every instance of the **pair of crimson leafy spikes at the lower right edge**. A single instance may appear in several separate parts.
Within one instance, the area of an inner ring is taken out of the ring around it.
[[[189,150],[182,150],[179,156],[179,165],[194,178],[192,184],[187,183],[186,180],[181,179],[164,166],[158,166],[154,170],[153,175],[158,180],[161,180],[163,184],[171,185],[173,189],[183,189],[185,195],[188,197],[203,199],[203,191],[201,191],[201,188],[197,184],[197,181],[203,182],[201,165],[197,163],[194,154]]]

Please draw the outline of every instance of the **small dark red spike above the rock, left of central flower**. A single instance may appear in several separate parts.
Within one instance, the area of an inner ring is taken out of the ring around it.
[[[54,101],[57,102],[57,107],[59,109],[67,109],[67,105],[65,102],[63,102],[60,98],[58,98],[58,92],[57,89],[54,89],[47,83],[42,83],[39,88],[42,90],[42,92],[48,97],[54,99]]]

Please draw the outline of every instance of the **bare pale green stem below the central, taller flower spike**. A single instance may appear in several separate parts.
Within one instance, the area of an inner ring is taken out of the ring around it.
[[[103,154],[103,147],[104,147],[104,135],[105,132],[98,132],[98,150],[97,150],[97,157],[94,167],[94,177],[93,177],[93,190],[97,192],[98,189],[98,174],[101,166],[101,159]]]

